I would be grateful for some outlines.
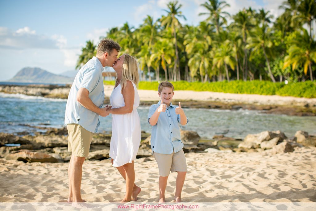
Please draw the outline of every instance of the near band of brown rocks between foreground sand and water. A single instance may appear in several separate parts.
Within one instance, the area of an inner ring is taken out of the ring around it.
[[[38,127],[40,128],[40,127]],[[68,162],[71,152],[68,152],[66,127],[41,128],[46,132],[36,132],[34,135],[15,136],[10,133],[0,133],[0,158],[27,162]],[[295,136],[288,138],[281,131],[263,131],[258,134],[248,134],[244,140],[216,135],[211,140],[201,139],[194,131],[181,130],[181,140],[184,152],[265,152],[278,154],[293,152],[296,147],[315,147],[316,137],[307,132],[297,131]],[[94,133],[87,160],[107,160],[110,162],[111,133]],[[8,146],[9,145],[9,146]],[[10,146],[11,145],[11,146]],[[13,145],[13,146],[12,146]],[[137,158],[151,156],[150,134],[142,131],[142,140]],[[146,159],[145,159],[146,161]]]

